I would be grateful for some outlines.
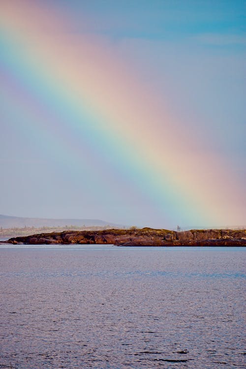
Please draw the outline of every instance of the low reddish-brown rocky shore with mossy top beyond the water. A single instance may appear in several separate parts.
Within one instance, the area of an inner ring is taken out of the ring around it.
[[[41,233],[8,240],[10,244],[113,244],[117,246],[246,246],[246,230],[110,229]]]

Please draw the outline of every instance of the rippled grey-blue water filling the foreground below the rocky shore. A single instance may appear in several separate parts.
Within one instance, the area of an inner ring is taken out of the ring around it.
[[[1,246],[0,368],[243,368],[245,251]]]

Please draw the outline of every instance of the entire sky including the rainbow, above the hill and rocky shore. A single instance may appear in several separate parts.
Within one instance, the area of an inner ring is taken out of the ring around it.
[[[246,225],[246,1],[1,0],[0,214]]]

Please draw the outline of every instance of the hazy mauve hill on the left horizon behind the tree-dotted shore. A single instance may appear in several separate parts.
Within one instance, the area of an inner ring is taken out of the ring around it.
[[[2,228],[24,228],[24,227],[63,227],[66,225],[76,226],[99,226],[110,225],[112,227],[122,227],[119,224],[106,222],[100,219],[49,219],[49,218],[23,218],[19,216],[0,215],[0,227]]]

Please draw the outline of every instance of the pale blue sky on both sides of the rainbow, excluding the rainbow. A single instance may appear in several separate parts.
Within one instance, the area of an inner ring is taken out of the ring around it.
[[[137,78],[163,98],[163,106],[177,122],[183,122],[190,136],[199,138],[208,151],[223,157],[228,168],[233,168],[230,175],[239,183],[246,182],[246,1],[38,2],[52,4],[58,12],[62,9],[61,14],[73,20],[70,33],[96,35],[103,44],[110,45],[116,58],[132,65]],[[4,74],[4,68],[1,73]],[[94,177],[83,183],[80,173],[71,183],[61,174],[56,158],[41,152],[44,137],[35,147],[31,130],[28,137],[21,124],[16,129],[21,109],[8,106],[4,99],[0,109],[5,117],[1,131],[6,137],[1,142],[0,165],[1,173],[8,178],[0,184],[0,214],[162,224],[154,209],[150,209],[149,215],[144,211],[139,199],[139,209],[132,211],[132,204],[125,203],[121,204],[124,210],[118,212],[115,198],[107,199],[111,203],[107,206],[103,190],[98,189],[100,207],[92,205]],[[24,172],[28,173],[28,184],[22,176]],[[24,203],[22,193],[26,186],[29,196]],[[81,192],[88,193],[84,203],[78,201]],[[246,194],[241,195],[245,201]]]

